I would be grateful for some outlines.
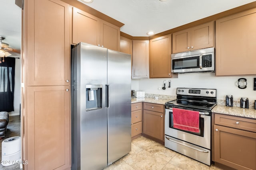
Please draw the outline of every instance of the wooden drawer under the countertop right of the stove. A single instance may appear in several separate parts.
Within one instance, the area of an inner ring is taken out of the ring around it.
[[[215,124],[256,132],[256,120],[215,114]]]

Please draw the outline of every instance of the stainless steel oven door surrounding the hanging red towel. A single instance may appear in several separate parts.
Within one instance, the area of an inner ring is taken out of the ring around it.
[[[184,109],[184,108],[183,108]],[[171,122],[170,122],[171,121]],[[172,108],[165,109],[165,135],[192,143],[207,149],[211,148],[211,116],[208,112],[200,112],[200,132],[193,133],[173,128]]]

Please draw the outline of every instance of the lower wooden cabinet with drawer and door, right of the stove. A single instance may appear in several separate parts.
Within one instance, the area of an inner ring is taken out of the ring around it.
[[[247,131],[245,129],[252,129]],[[214,161],[239,170],[256,169],[255,119],[215,114]]]

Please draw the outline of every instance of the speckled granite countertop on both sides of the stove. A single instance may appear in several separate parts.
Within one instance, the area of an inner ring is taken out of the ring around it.
[[[159,97],[161,97],[161,96],[159,96]],[[164,105],[166,102],[169,102],[169,101],[175,100],[175,99],[176,99],[175,96],[171,96],[170,98],[167,98],[167,99],[166,98],[155,99],[155,98],[153,98],[153,96],[150,96],[150,97],[145,97],[145,98],[132,98],[132,103],[148,102],[148,103]],[[212,109],[212,112],[256,119],[256,109],[252,109],[252,108],[243,109],[243,108],[235,107],[235,106],[228,107],[223,104],[224,104],[224,102],[218,101],[217,106],[215,106]]]

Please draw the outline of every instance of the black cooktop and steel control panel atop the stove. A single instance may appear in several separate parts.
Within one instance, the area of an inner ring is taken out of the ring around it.
[[[216,89],[177,88],[177,100],[166,102],[165,106],[210,111],[216,104]]]

